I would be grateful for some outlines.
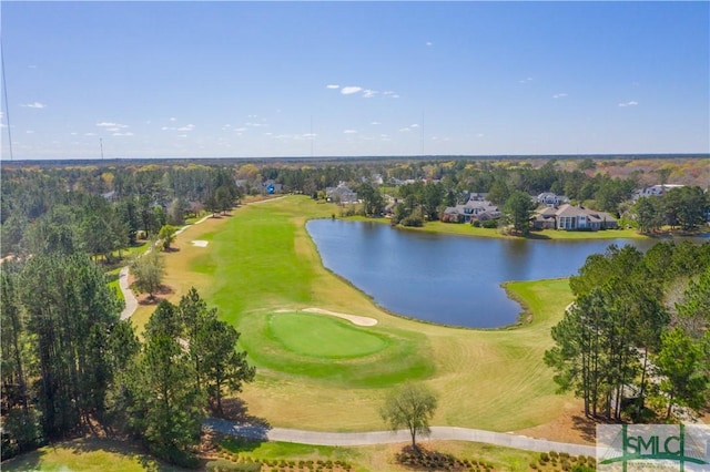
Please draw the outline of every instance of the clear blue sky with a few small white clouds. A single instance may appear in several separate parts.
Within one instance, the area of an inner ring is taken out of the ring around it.
[[[16,160],[710,152],[709,2],[0,9]]]

